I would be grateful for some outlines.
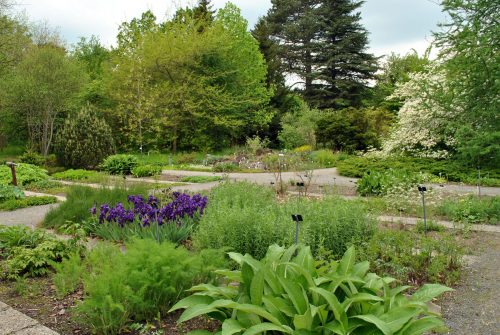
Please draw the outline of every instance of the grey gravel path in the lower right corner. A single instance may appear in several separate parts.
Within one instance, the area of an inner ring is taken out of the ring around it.
[[[500,334],[500,235],[480,236],[462,283],[441,304],[448,334]]]

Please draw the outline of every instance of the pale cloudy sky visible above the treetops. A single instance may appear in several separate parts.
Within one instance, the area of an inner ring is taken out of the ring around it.
[[[106,46],[115,44],[118,26],[150,9],[161,20],[192,0],[17,0],[18,11],[32,21],[46,21],[69,43],[80,37],[99,36]],[[227,0],[212,0],[221,8]],[[249,27],[267,13],[271,0],[232,0],[240,7]],[[422,54],[432,40],[432,31],[446,17],[438,0],[366,0],[361,7],[362,23],[370,32],[369,51],[376,56],[391,52]]]

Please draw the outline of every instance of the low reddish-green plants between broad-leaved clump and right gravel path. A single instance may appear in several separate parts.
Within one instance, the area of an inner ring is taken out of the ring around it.
[[[370,261],[372,271],[410,284],[456,284],[464,254],[453,237],[445,233],[424,236],[392,230],[379,231],[360,251],[360,259]]]

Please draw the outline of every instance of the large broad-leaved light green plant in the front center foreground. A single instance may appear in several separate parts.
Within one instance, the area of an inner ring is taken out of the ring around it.
[[[353,247],[333,263],[315,262],[309,247],[273,245],[261,261],[229,255],[239,270],[218,271],[222,286],[191,288],[171,309],[185,309],[178,322],[207,315],[221,322],[220,335],[417,335],[443,326],[427,302],[450,288],[427,284],[408,295],[409,286],[355,263]]]

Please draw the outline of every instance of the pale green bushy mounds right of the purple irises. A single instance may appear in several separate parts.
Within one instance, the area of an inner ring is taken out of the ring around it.
[[[374,222],[362,205],[340,198],[277,202],[271,188],[251,183],[223,183],[212,190],[206,213],[193,236],[201,248],[229,247],[256,258],[268,246],[292,245],[295,225],[292,214],[301,214],[299,240],[341,255],[350,245],[369,240]]]

